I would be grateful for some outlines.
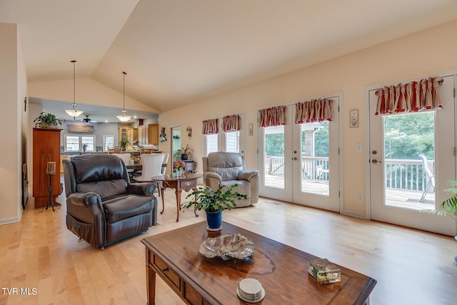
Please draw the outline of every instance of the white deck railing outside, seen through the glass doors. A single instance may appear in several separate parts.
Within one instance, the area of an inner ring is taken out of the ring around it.
[[[328,176],[331,174],[331,170],[328,168],[328,158],[303,157],[301,162],[303,179],[328,180]],[[265,164],[268,164],[268,174],[283,176],[284,158],[282,156],[267,156]],[[386,159],[385,164],[386,187],[423,191],[427,185],[422,160]],[[428,160],[428,167],[433,172],[435,161]],[[428,191],[433,192],[434,190],[429,189]]]

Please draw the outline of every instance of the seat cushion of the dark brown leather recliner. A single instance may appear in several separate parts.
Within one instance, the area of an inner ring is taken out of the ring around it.
[[[149,196],[117,196],[103,202],[106,221],[114,223],[131,216],[149,213],[154,204]]]

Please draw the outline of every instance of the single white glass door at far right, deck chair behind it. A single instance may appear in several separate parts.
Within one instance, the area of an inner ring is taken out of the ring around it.
[[[421,212],[439,208],[456,176],[454,76],[442,77],[438,110],[376,116],[376,90],[368,89],[371,219],[456,234],[452,219]]]

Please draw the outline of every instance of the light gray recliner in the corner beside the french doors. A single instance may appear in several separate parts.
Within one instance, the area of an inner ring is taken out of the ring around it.
[[[241,154],[214,152],[203,157],[204,183],[211,189],[238,184],[233,191],[246,194],[247,199],[236,200],[236,207],[250,206],[258,201],[258,171],[246,170]]]

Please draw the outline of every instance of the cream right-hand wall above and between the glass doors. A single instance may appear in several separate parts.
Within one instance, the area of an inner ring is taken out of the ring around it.
[[[191,126],[193,137],[183,138],[182,145],[191,143],[194,160],[201,160],[203,142],[201,121],[228,114],[246,113],[246,124],[256,126],[257,110],[268,106],[291,104],[301,99],[343,92],[341,118],[343,139],[343,212],[365,215],[365,204],[357,194],[365,194],[364,152],[356,151],[356,144],[365,141],[366,86],[411,79],[457,68],[457,21],[388,41],[368,49],[299,69],[268,81],[246,86],[227,94],[199,101],[159,115],[161,126]],[[359,127],[349,127],[349,111],[358,109]],[[290,118],[289,118],[290,119]],[[247,133],[247,129],[246,133]],[[257,130],[246,134],[246,164],[257,167]],[[170,137],[168,138],[170,139]],[[165,150],[169,142],[161,143]],[[201,162],[199,162],[201,171]]]

